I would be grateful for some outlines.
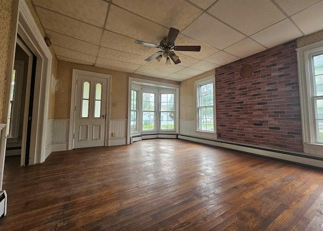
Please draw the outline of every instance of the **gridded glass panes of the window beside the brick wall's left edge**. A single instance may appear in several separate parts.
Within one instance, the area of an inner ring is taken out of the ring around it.
[[[198,85],[197,123],[198,131],[214,132],[213,82]]]

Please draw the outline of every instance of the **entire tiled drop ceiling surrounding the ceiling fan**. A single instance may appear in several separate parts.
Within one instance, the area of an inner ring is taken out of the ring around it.
[[[323,29],[322,0],[32,0],[59,60],[182,81]],[[181,63],[144,60],[170,27]]]

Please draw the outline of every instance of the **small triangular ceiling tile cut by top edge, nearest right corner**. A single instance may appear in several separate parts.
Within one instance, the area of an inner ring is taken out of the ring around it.
[[[300,12],[321,0],[275,0],[275,2],[285,11],[288,16],[292,16],[297,12]]]

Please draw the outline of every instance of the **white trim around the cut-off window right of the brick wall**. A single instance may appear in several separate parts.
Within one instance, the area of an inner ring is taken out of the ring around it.
[[[301,102],[301,118],[304,152],[321,155],[323,144],[316,143],[315,107],[311,98],[313,81],[309,58],[313,54],[323,52],[323,41],[316,42],[297,49],[298,79]]]

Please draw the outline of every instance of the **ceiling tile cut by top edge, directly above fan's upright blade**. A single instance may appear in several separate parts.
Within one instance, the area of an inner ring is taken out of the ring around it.
[[[202,11],[184,0],[114,0],[114,4],[167,28],[184,29]]]

